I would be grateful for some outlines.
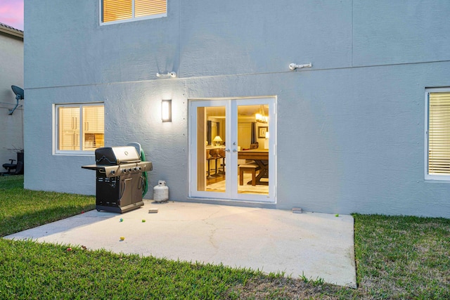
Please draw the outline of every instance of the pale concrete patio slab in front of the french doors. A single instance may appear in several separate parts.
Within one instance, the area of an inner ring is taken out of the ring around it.
[[[4,238],[223,263],[356,287],[352,216],[184,202],[144,203],[125,214],[87,211]],[[148,212],[155,208],[158,213]]]

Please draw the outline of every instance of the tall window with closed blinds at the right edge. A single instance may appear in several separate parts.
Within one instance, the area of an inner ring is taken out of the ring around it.
[[[425,179],[450,181],[450,89],[428,89]]]

